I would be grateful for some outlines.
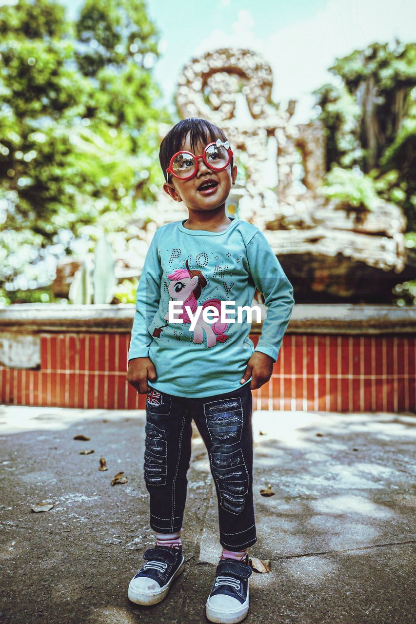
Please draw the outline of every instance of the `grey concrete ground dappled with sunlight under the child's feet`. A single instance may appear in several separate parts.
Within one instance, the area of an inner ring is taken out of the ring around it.
[[[2,624],[207,622],[220,545],[196,431],[185,572],[155,607],[127,599],[154,541],[144,421],[144,411],[0,406]],[[250,555],[272,568],[250,578],[247,624],[415,622],[415,425],[410,413],[254,412],[259,539]],[[121,470],[127,483],[112,486]],[[272,497],[260,495],[267,484]],[[32,512],[42,501],[54,507]]]

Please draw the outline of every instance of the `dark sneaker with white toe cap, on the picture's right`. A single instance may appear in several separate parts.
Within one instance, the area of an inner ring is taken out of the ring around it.
[[[242,561],[220,559],[212,592],[207,600],[207,618],[219,624],[241,622],[249,612],[249,556]]]

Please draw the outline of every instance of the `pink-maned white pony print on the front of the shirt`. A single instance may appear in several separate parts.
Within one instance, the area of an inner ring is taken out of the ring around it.
[[[177,269],[171,275],[168,275],[169,283],[169,295],[176,301],[181,301],[182,310],[177,313],[177,317],[181,318],[183,323],[191,323],[191,318],[186,311],[186,306],[189,306],[192,314],[196,313],[198,306],[198,299],[201,296],[202,288],[207,285],[207,280],[202,275],[202,271],[192,270],[189,268],[188,261],[186,260],[186,269]],[[207,299],[203,301],[202,311],[207,306],[214,306],[217,308],[220,314],[221,302],[219,299]],[[217,342],[224,343],[229,336],[225,334],[229,323],[220,323],[218,319],[214,323],[206,323],[202,318],[202,311],[197,319],[197,323],[194,329],[194,338],[192,340],[195,344],[202,344],[204,342],[204,331],[207,336],[207,347],[213,347]],[[165,320],[168,321],[169,312],[165,315]],[[162,328],[154,329],[153,335],[160,336]]]

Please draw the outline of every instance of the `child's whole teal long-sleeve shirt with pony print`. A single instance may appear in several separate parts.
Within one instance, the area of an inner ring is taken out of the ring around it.
[[[247,310],[239,322],[237,310],[252,306],[256,287],[268,310],[254,349]],[[169,300],[177,302],[179,322],[168,322]],[[207,318],[214,319],[222,301],[235,322],[205,322],[204,308],[213,306]],[[294,303],[279,260],[252,223],[233,218],[223,232],[167,223],[156,230],[144,261],[127,357],[152,360],[157,380],[151,386],[161,392],[191,398],[231,392],[242,386],[254,351],[277,360]],[[193,331],[186,306],[192,314],[201,308]]]

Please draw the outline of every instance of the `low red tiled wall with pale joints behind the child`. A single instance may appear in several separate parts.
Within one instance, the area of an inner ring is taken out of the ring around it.
[[[250,336],[257,344],[259,334]],[[144,409],[126,382],[131,334],[42,333],[39,370],[0,366],[2,404]],[[416,411],[416,337],[286,333],[254,409]]]

